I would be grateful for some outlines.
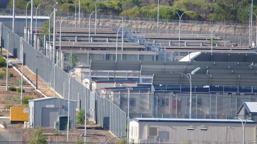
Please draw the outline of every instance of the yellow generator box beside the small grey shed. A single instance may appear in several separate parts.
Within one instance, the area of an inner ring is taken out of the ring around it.
[[[10,108],[10,123],[11,124],[24,124],[24,121],[29,121],[29,108],[28,107],[11,107]]]

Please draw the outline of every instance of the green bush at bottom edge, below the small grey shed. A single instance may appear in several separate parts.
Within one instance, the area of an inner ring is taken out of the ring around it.
[[[44,136],[44,128],[37,126],[30,138],[29,144],[47,144],[46,137]]]

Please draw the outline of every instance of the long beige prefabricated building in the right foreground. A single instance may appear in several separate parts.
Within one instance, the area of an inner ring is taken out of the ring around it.
[[[242,120],[245,122],[245,120]],[[256,122],[246,121],[245,142],[256,140]],[[235,143],[243,139],[241,120],[132,118],[129,143]]]

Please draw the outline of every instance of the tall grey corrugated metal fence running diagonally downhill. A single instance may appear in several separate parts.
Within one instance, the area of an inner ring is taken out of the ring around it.
[[[91,92],[83,84],[75,80],[72,75],[64,72],[58,64],[55,64],[39,50],[34,49],[23,37],[19,37],[10,29],[0,23],[2,47],[32,72],[38,74],[44,82],[51,82],[51,87],[65,99],[77,101],[77,108],[90,111],[90,119],[110,130],[115,136],[125,136],[126,113],[113,105],[107,99]],[[22,50],[23,49],[23,50]],[[101,108],[100,108],[101,107]],[[97,115],[96,115],[97,114]],[[113,124],[114,120],[115,124]]]

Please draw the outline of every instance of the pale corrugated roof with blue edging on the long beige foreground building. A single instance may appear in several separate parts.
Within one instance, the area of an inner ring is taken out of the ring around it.
[[[130,121],[144,122],[205,122],[205,123],[241,123],[238,119],[187,119],[187,118],[131,118]],[[245,122],[245,120],[242,120]],[[256,124],[253,120],[247,120],[248,124]]]

